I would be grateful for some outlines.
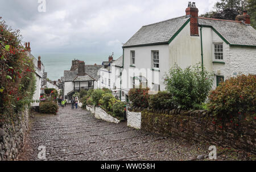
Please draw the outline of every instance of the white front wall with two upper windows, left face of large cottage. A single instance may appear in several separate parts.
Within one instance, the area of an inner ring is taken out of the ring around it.
[[[124,50],[124,70],[122,72],[122,89],[133,88],[132,78],[134,67],[130,67],[130,51],[135,51],[135,68],[138,69],[137,73],[142,73],[142,76],[148,80],[148,87],[152,89],[152,83],[160,83],[160,90],[164,90],[164,75],[170,68],[170,59],[168,58],[168,45],[154,45],[154,46],[141,46],[134,48],[125,48]],[[160,71],[152,71],[151,64],[151,51],[159,51],[159,69]],[[151,71],[151,72],[150,72]],[[155,75],[155,77],[154,77]],[[136,74],[135,76],[139,76]],[[156,80],[153,80],[156,78]]]

